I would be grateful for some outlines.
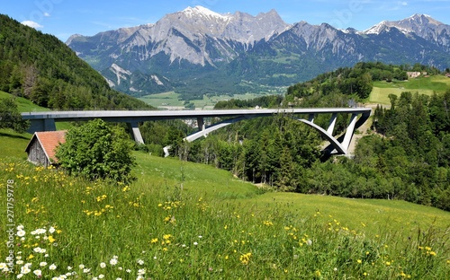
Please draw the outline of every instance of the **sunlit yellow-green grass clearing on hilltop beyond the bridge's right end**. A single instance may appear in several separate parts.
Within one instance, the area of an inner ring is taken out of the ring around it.
[[[389,94],[400,97],[401,92],[419,92],[419,94],[432,95],[433,92],[443,93],[450,89],[450,79],[445,75],[419,77],[408,81],[374,82],[374,89],[369,96],[370,103],[391,104]]]

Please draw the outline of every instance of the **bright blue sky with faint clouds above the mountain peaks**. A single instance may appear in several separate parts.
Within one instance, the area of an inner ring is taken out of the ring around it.
[[[364,31],[383,20],[398,21],[426,13],[450,24],[450,0],[4,0],[0,13],[65,41],[72,34],[155,23],[166,13],[202,5],[217,13],[257,15],[275,9],[284,22],[327,22],[337,28]],[[0,27],[1,28],[1,27]]]

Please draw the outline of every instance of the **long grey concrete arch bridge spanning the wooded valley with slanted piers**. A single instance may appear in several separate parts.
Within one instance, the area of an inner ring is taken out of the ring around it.
[[[317,129],[329,141],[327,148],[332,153],[347,154],[348,147],[355,130],[361,127],[370,117],[370,108],[307,108],[307,109],[213,109],[213,110],[86,110],[86,111],[46,111],[24,112],[23,119],[31,121],[30,133],[36,131],[54,131],[58,121],[86,121],[102,118],[104,121],[125,122],[130,127],[134,140],[143,144],[139,131],[139,122],[163,119],[196,119],[199,131],[187,136],[184,140],[191,142],[202,136],[207,136],[214,130],[229,126],[243,119],[269,117],[275,114],[307,115],[298,118],[306,125]],[[329,126],[324,128],[314,123],[314,118],[320,114],[331,114]],[[351,114],[344,135],[333,136],[338,114]],[[209,127],[205,126],[204,118],[228,118]]]

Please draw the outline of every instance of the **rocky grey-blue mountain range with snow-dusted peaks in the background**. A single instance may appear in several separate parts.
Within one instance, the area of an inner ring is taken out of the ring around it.
[[[253,16],[195,6],[156,23],[73,35],[67,45],[121,92],[176,89],[201,97],[286,86],[359,61],[444,69],[449,34],[449,25],[424,14],[341,31],[327,23],[287,24],[275,10]]]

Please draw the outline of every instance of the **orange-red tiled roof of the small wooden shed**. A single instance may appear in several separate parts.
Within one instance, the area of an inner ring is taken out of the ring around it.
[[[35,140],[38,140],[42,150],[44,150],[44,153],[47,156],[47,159],[49,159],[49,162],[58,162],[58,159],[55,157],[55,149],[58,144],[63,144],[66,142],[66,133],[67,130],[35,132],[31,137],[30,143],[27,145],[25,152],[29,153],[31,144]]]

